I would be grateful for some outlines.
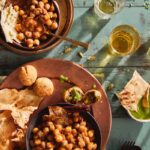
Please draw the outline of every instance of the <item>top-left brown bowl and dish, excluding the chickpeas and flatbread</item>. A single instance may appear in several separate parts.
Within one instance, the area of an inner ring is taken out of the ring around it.
[[[22,5],[25,2],[25,0],[22,1],[8,0],[8,1],[13,5],[18,4],[20,7],[22,7]],[[59,34],[61,36],[66,36],[73,22],[73,14],[74,14],[73,2],[72,0],[64,0],[64,1],[54,0],[53,2],[57,10],[57,14],[59,16],[58,17],[59,19],[57,20],[59,27],[54,33]],[[61,39],[49,36],[48,40],[43,42],[39,47],[29,49],[28,47],[20,45],[18,43],[13,43],[13,44],[7,43],[5,41],[5,37],[2,34],[2,30],[0,30],[0,34],[2,35],[0,37],[0,44],[5,46],[8,50],[22,55],[33,55],[33,54],[47,52],[62,42]]]

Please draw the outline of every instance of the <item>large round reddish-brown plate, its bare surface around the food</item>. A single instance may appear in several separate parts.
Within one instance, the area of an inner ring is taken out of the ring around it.
[[[96,103],[92,106],[91,113],[98,122],[101,130],[101,149],[103,150],[107,144],[108,137],[111,130],[112,116],[108,98],[105,91],[98,80],[91,75],[87,70],[79,65],[58,59],[41,59],[28,63],[33,65],[38,70],[38,77],[51,78],[54,83],[54,94],[43,100],[40,109],[45,108],[49,104],[62,103],[64,89],[67,89],[72,84],[61,83],[59,80],[60,75],[67,76],[72,83],[79,86],[84,92],[91,89],[93,84],[102,93],[102,102]],[[3,88],[17,88],[22,89],[23,86],[18,80],[18,70],[13,71],[2,83],[0,89]]]

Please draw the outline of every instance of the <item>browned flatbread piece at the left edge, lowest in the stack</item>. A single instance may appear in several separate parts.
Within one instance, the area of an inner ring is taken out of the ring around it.
[[[0,150],[13,150],[14,144],[11,142],[11,135],[17,127],[11,117],[11,112],[0,113],[0,118]]]

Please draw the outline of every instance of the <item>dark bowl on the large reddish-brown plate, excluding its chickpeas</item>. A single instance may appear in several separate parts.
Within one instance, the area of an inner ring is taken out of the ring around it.
[[[60,106],[60,107],[64,107],[64,106],[73,106],[71,104],[66,104],[66,103],[62,103],[62,104],[54,104],[54,105],[49,105],[49,106]],[[42,116],[48,114],[48,107],[44,108],[41,111],[36,111],[32,117],[31,120],[29,122],[29,126],[27,129],[27,133],[26,133],[26,149],[27,150],[31,150],[31,146],[30,146],[30,139],[32,139],[32,129],[35,126],[38,126],[39,124],[41,124],[41,120],[42,120]],[[84,117],[84,119],[86,120],[86,122],[89,124],[89,126],[95,131],[95,142],[97,144],[97,150],[100,150],[101,147],[101,132],[100,132],[100,128],[96,122],[96,120],[94,119],[94,117],[87,111],[82,111],[80,112],[80,114]]]

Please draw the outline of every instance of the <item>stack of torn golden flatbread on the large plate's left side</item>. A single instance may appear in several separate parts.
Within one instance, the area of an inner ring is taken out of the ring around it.
[[[26,125],[42,99],[29,89],[0,90],[0,150],[26,149]]]

